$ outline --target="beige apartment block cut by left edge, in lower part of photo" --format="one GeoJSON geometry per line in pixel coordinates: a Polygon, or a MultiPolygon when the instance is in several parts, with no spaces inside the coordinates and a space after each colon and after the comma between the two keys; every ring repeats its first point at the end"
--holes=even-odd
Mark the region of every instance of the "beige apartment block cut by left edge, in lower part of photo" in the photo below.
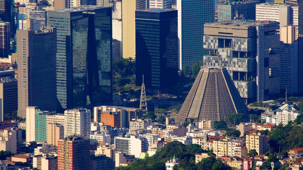
{"type": "Polygon", "coordinates": [[[0,130],[0,149],[17,153],[17,132],[14,130],[0,130]]]}

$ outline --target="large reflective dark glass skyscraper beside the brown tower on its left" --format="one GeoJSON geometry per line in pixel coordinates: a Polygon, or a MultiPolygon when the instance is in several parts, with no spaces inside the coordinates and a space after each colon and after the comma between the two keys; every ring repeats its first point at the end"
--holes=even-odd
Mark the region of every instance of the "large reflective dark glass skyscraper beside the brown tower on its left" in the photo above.
{"type": "Polygon", "coordinates": [[[58,109],[112,102],[111,23],[110,7],[87,5],[48,11],[48,25],[60,27],[57,32],[58,109]]]}

